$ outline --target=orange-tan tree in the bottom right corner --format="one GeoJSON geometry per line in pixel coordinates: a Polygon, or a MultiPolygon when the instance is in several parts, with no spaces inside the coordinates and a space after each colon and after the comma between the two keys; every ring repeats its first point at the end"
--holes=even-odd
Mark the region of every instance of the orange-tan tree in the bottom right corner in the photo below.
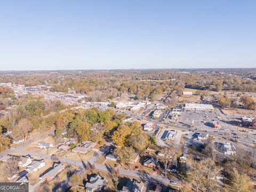
{"type": "Polygon", "coordinates": [[[239,174],[235,168],[233,168],[231,183],[235,192],[249,191],[249,178],[245,174],[239,174]]]}

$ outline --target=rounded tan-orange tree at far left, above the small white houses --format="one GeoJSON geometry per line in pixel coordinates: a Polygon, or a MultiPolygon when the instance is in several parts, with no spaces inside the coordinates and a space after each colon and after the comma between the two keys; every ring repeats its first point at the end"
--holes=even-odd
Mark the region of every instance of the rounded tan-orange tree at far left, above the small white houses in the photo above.
{"type": "Polygon", "coordinates": [[[28,134],[33,130],[33,124],[26,118],[19,121],[18,125],[14,127],[13,133],[18,136],[18,138],[24,138],[27,140],[28,134]]]}

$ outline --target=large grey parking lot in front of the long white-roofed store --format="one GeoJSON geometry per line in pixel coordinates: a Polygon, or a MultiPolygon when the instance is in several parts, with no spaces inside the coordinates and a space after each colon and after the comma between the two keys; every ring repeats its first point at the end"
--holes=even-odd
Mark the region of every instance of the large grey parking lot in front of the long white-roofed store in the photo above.
{"type": "Polygon", "coordinates": [[[221,125],[220,129],[216,130],[225,130],[228,131],[228,126],[226,123],[221,121],[220,114],[218,111],[207,111],[207,110],[184,110],[180,116],[180,124],[191,126],[193,125],[194,121],[194,128],[200,130],[214,130],[210,123],[204,122],[211,122],[216,121],[221,125]],[[219,117],[219,118],[218,118],[219,117]]]}

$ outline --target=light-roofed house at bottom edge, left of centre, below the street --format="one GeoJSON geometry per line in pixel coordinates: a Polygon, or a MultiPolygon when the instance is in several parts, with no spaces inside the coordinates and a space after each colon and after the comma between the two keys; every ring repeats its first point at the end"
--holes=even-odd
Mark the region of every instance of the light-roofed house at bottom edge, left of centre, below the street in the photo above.
{"type": "Polygon", "coordinates": [[[88,182],[85,184],[86,192],[101,191],[101,189],[108,182],[107,179],[102,178],[100,175],[93,175],[88,182]]]}

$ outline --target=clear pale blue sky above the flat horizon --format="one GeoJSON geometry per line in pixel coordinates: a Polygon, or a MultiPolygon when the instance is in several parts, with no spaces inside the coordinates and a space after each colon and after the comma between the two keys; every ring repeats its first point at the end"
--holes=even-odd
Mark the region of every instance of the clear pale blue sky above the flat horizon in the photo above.
{"type": "Polygon", "coordinates": [[[0,2],[0,70],[256,67],[256,1],[0,2]]]}

